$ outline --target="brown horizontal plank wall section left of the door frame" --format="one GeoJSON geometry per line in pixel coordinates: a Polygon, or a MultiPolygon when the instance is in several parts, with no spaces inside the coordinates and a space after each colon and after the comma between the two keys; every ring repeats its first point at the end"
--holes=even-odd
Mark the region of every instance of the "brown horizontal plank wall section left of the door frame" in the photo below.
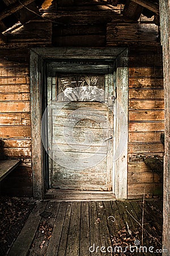
{"type": "Polygon", "coordinates": [[[22,163],[1,181],[1,193],[32,196],[28,49],[0,49],[1,158],[22,163]]]}

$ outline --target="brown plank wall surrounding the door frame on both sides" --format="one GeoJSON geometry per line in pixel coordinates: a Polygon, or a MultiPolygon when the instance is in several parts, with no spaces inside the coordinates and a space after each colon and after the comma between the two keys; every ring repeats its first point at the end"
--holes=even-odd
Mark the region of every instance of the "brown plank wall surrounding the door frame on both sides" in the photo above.
{"type": "MultiPolygon", "coordinates": [[[[95,15],[94,12],[92,14],[95,15]]],[[[68,18],[63,13],[62,16],[57,15],[55,22],[58,19],[64,22],[68,18]]],[[[69,16],[70,23],[66,26],[56,26],[54,23],[53,28],[50,22],[41,23],[39,20],[36,23],[34,20],[33,24],[29,23],[16,33],[8,32],[8,46],[0,47],[1,155],[23,159],[22,164],[2,181],[1,191],[8,195],[32,195],[29,48],[128,46],[128,197],[141,197],[144,188],[146,194],[160,194],[160,177],[143,162],[145,156],[163,156],[164,152],[163,144],[160,143],[160,134],[164,131],[164,92],[158,27],[155,24],[137,26],[136,23],[127,23],[122,18],[120,23],[111,22],[112,19],[109,19],[111,23],[107,24],[104,13],[101,19],[97,13],[93,18],[94,23],[90,24],[87,13],[82,14],[81,10],[80,15],[83,16],[83,26],[81,20],[78,24],[76,15],[69,16]],[[36,41],[36,32],[31,34],[32,26],[37,29],[36,41]]],[[[52,13],[49,18],[53,18],[52,13]]]]}

